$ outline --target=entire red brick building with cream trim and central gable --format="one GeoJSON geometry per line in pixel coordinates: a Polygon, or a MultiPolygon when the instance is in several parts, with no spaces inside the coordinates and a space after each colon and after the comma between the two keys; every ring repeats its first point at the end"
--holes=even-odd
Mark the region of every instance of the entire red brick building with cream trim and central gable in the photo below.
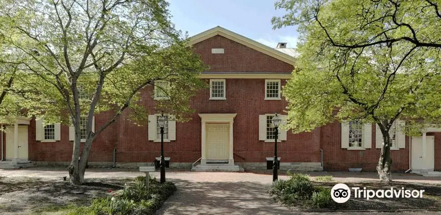
{"type": "MultiPolygon", "coordinates": [[[[210,88],[192,99],[191,108],[196,111],[191,121],[175,122],[171,116],[165,129],[170,166],[191,168],[201,159],[195,170],[265,169],[274,149],[270,119],[273,113],[285,119],[287,102],[281,90],[292,76],[295,52],[285,48],[286,43],[270,48],[219,26],[192,37],[190,44],[210,66],[201,75],[210,88]]],[[[156,123],[160,111],[154,109],[158,99],[167,98],[154,87],[143,91],[141,101],[150,114],[148,125],[138,127],[127,115],[121,116],[92,144],[89,165],[112,166],[114,155],[117,166],[151,165],[160,153],[156,123]]],[[[98,128],[109,117],[111,114],[97,114],[94,126],[98,128]]],[[[68,126],[43,126],[41,120],[20,118],[1,134],[2,163],[68,165],[72,131],[68,126]]],[[[441,170],[440,131],[428,129],[422,137],[412,138],[392,131],[392,170],[441,170]]],[[[334,122],[299,134],[280,129],[281,169],[375,171],[381,147],[377,133],[374,125],[357,122],[334,122]]]]}

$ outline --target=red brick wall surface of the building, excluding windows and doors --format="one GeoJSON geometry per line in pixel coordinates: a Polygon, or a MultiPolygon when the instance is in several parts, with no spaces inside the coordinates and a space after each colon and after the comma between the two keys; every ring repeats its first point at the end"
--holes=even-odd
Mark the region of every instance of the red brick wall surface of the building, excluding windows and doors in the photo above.
{"type": "MultiPolygon", "coordinates": [[[[194,44],[211,72],[290,73],[293,65],[287,64],[262,52],[234,42],[220,35],[194,44]],[[224,54],[211,54],[211,48],[224,48],[224,54]]],[[[206,79],[205,81],[209,81],[206,79]]],[[[281,80],[282,86],[286,80],[281,80]]],[[[153,87],[142,93],[142,104],[149,114],[154,110],[153,87]]],[[[197,93],[190,103],[195,109],[189,122],[176,123],[176,140],[165,143],[166,156],[171,162],[192,163],[201,157],[201,119],[198,113],[237,113],[233,124],[234,160],[238,163],[263,163],[273,155],[273,143],[259,141],[259,114],[283,113],[287,102],[265,100],[265,79],[226,79],[226,100],[209,100],[209,89],[197,93]]],[[[109,120],[111,112],[95,117],[95,128],[109,120]]],[[[28,127],[29,160],[41,162],[70,162],[73,143],[69,141],[69,128],[62,126],[61,141],[41,143],[35,140],[35,121],[28,127]]],[[[8,135],[8,134],[6,134],[8,135]]],[[[441,170],[441,133],[435,135],[435,169],[441,170]]],[[[4,146],[4,145],[3,145],[4,146]]],[[[5,147],[5,146],[4,146],[5,147]]],[[[4,149],[4,148],[3,148],[4,149]]],[[[148,141],[148,128],[137,126],[128,120],[127,111],[116,123],[100,133],[92,144],[89,162],[112,162],[113,150],[117,150],[117,162],[149,163],[159,156],[160,143],[148,141]]],[[[325,171],[347,171],[347,168],[363,168],[375,171],[379,149],[375,149],[375,128],[372,127],[372,148],[360,151],[341,148],[341,125],[330,123],[312,132],[293,134],[288,132],[287,141],[279,144],[282,162],[320,162],[323,151],[325,171]]],[[[4,150],[5,151],[5,150],[4,150]]],[[[409,137],[406,148],[392,151],[392,170],[409,169],[409,137]]]]}

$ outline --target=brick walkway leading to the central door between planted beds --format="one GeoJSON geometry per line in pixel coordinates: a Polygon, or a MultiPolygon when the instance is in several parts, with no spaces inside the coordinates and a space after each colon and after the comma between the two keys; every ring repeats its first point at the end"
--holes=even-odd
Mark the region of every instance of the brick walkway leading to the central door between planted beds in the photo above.
{"type": "Polygon", "coordinates": [[[178,191],[165,202],[158,215],[292,214],[266,194],[271,175],[181,172],[169,174],[169,180],[178,191]]]}

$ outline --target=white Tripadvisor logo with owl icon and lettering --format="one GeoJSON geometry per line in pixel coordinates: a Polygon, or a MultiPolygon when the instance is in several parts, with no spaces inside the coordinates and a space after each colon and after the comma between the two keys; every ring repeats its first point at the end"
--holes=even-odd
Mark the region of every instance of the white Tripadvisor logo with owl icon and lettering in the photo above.
{"type": "Polygon", "coordinates": [[[391,188],[387,190],[369,190],[359,187],[349,187],[345,184],[336,184],[331,189],[331,197],[337,203],[344,203],[351,197],[351,190],[354,192],[354,198],[422,198],[422,193],[424,190],[405,190],[404,187],[401,189],[391,188]]]}

